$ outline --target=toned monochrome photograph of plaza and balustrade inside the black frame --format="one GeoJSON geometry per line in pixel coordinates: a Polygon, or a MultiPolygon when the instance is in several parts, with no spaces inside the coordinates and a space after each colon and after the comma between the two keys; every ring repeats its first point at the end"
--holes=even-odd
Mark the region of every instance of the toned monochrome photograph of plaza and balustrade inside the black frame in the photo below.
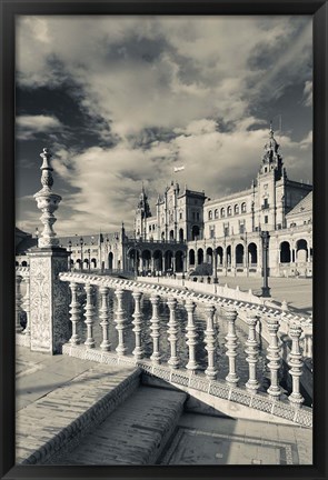
{"type": "Polygon", "coordinates": [[[16,17],[17,466],[312,466],[312,34],[16,17]]]}

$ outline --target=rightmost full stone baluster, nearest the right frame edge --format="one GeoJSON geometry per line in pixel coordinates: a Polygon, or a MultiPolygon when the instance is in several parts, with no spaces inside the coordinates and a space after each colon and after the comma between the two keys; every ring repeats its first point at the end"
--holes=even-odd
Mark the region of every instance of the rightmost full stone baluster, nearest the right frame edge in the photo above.
{"type": "Polygon", "coordinates": [[[299,349],[299,338],[301,336],[301,328],[297,324],[289,327],[289,337],[291,338],[291,351],[289,353],[289,373],[292,378],[292,392],[288,397],[290,403],[295,407],[300,407],[304,402],[304,397],[299,392],[299,378],[302,373],[302,360],[299,349]]]}

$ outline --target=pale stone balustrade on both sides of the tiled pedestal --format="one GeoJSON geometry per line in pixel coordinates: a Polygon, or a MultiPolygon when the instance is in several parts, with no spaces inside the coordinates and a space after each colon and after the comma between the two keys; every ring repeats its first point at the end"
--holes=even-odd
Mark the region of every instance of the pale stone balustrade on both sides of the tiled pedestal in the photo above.
{"type": "MultiPolygon", "coordinates": [[[[23,331],[18,322],[18,313],[24,311],[24,308],[28,312],[28,302],[22,301],[21,294],[21,287],[24,282],[28,292],[28,269],[24,272],[21,271],[21,268],[17,269],[17,337],[20,338],[33,334],[28,321],[23,331]]],[[[229,401],[243,402],[271,413],[277,411],[278,416],[288,418],[290,421],[305,426],[311,424],[311,413],[302,406],[304,398],[300,393],[302,358],[308,356],[311,349],[309,321],[301,323],[295,316],[289,317],[281,313],[280,310],[147,282],[76,272],[62,272],[59,273],[59,278],[61,282],[68,282],[71,292],[68,319],[68,322],[71,323],[71,338],[68,343],[63,344],[63,353],[116,364],[136,364],[145,372],[172,384],[183,386],[183,388],[193,386],[192,388],[227,398],[229,401]],[[110,290],[115,299],[111,304],[113,312],[111,316],[109,314],[110,290]],[[98,298],[97,304],[95,293],[98,298]],[[125,296],[130,296],[130,301],[133,302],[132,314],[127,312],[125,296]],[[142,311],[145,298],[148,299],[151,309],[148,317],[142,311]],[[167,316],[165,327],[160,321],[160,310],[162,316],[163,308],[166,308],[167,316]],[[185,330],[179,324],[177,309],[186,310],[185,330]],[[201,339],[195,322],[198,310],[202,311],[205,320],[201,339]],[[239,353],[237,351],[239,343],[237,318],[243,319],[245,328],[248,331],[247,340],[243,342],[246,354],[243,359],[240,357],[240,350],[239,353]],[[278,372],[282,363],[280,326],[290,330],[288,333],[291,340],[288,367],[292,389],[288,398],[279,386],[278,372]],[[227,334],[223,344],[218,346],[218,329],[220,328],[225,328],[223,331],[227,334]],[[96,339],[97,329],[98,338],[96,339]],[[129,350],[126,336],[131,331],[133,332],[133,348],[129,350]],[[266,332],[269,343],[267,351],[262,351],[262,356],[266,356],[268,360],[266,369],[269,387],[268,384],[264,387],[259,382],[260,336],[258,333],[260,331],[266,332]],[[180,350],[178,348],[182,337],[183,358],[181,346],[180,350]],[[161,349],[163,339],[168,347],[166,352],[161,349]],[[117,346],[115,350],[112,344],[117,346]],[[202,349],[202,358],[206,361],[201,368],[197,359],[197,351],[199,354],[200,349],[202,349]],[[220,362],[222,356],[226,357],[228,368],[223,376],[220,362]],[[248,378],[243,376],[241,381],[239,369],[243,367],[245,370],[247,363],[248,378]],[[297,413],[300,411],[301,413],[297,413]]]]}

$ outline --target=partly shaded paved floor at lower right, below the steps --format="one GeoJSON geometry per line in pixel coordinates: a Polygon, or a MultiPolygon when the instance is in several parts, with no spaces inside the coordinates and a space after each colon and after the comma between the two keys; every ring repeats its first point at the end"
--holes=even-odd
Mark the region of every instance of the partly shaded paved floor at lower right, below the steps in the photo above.
{"type": "Polygon", "coordinates": [[[311,464],[312,431],[183,413],[161,464],[311,464]]]}

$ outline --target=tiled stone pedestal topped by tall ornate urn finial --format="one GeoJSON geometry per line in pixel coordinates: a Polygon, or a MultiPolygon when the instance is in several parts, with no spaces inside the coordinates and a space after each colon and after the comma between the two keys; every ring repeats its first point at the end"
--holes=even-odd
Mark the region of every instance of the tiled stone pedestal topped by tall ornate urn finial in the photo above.
{"type": "Polygon", "coordinates": [[[68,270],[69,252],[59,248],[52,229],[61,197],[51,191],[53,179],[51,153],[41,153],[42,189],[34,194],[44,226],[38,248],[28,252],[30,263],[30,329],[31,350],[56,353],[70,338],[69,286],[59,280],[59,273],[68,270]]]}

